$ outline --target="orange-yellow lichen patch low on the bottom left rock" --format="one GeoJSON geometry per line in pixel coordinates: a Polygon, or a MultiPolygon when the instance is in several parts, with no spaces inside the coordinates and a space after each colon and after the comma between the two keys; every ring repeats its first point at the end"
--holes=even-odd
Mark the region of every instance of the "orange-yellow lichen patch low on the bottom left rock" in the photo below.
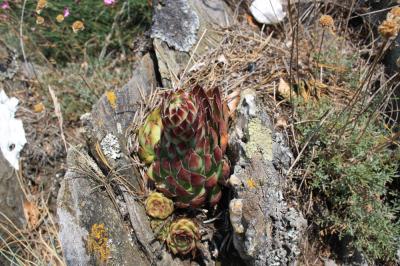
{"type": "Polygon", "coordinates": [[[87,240],[88,251],[100,258],[100,261],[106,262],[110,256],[108,246],[108,232],[104,224],[93,224],[90,235],[87,240]]]}

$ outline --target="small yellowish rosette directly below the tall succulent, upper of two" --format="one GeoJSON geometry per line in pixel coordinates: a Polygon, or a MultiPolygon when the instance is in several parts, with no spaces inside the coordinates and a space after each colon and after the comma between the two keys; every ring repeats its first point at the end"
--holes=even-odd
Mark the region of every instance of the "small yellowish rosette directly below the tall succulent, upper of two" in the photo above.
{"type": "Polygon", "coordinates": [[[152,192],[145,201],[146,213],[164,220],[174,212],[174,203],[162,193],[152,192]]]}

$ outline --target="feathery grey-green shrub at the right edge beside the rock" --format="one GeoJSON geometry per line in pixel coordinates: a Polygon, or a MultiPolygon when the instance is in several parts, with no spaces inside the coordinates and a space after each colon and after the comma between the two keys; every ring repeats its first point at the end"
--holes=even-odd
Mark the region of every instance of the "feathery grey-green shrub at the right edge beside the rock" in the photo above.
{"type": "Polygon", "coordinates": [[[312,136],[303,164],[310,167],[310,187],[327,213],[316,222],[325,235],[349,237],[351,247],[369,260],[394,259],[400,245],[400,205],[389,197],[388,185],[396,178],[398,149],[380,148],[390,132],[382,121],[369,121],[369,113],[340,114],[337,108],[320,125],[322,114],[332,108],[337,107],[328,99],[297,102],[299,121],[318,121],[297,126],[303,145],[312,136]],[[353,122],[347,126],[349,116],[353,122]]]}

